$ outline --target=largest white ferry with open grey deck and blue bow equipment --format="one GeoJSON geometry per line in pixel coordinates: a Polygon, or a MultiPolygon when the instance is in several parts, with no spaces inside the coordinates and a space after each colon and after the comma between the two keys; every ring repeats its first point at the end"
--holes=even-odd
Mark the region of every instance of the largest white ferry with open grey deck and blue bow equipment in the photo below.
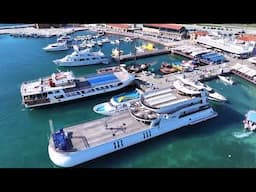
{"type": "Polygon", "coordinates": [[[149,97],[156,97],[153,107],[159,107],[159,111],[146,108],[141,101],[137,101],[126,112],[52,133],[48,145],[51,161],[60,167],[73,167],[217,116],[208,103],[205,91],[200,96],[191,98],[178,97],[174,90],[170,90],[167,88],[143,94],[149,106],[152,105],[148,101],[149,97]],[[166,101],[161,107],[162,101],[157,97],[162,93],[172,93],[173,99],[166,101]]]}

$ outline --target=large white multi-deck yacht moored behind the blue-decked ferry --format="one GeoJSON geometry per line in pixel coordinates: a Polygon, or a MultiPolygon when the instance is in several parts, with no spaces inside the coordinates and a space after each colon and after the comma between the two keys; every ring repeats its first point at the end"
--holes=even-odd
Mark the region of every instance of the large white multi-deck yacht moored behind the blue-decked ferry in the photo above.
{"type": "Polygon", "coordinates": [[[83,66],[94,64],[109,64],[110,59],[104,55],[103,52],[90,52],[89,49],[79,51],[74,48],[74,52],[62,59],[54,60],[53,62],[58,66],[83,66]]]}

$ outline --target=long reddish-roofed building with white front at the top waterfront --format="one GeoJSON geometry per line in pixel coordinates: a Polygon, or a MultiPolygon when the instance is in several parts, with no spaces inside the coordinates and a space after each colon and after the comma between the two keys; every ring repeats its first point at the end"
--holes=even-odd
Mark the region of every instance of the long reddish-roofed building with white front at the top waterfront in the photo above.
{"type": "Polygon", "coordinates": [[[188,30],[180,24],[143,24],[143,32],[173,40],[188,37],[188,30]]]}

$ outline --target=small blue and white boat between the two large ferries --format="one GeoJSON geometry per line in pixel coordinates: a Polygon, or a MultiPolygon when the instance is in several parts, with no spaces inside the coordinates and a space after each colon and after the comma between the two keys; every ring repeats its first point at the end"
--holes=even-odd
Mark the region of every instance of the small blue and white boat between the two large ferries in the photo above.
{"type": "Polygon", "coordinates": [[[134,91],[125,92],[116,95],[109,102],[100,103],[93,107],[93,111],[102,115],[115,115],[128,110],[131,103],[140,99],[142,91],[136,89],[134,91]]]}

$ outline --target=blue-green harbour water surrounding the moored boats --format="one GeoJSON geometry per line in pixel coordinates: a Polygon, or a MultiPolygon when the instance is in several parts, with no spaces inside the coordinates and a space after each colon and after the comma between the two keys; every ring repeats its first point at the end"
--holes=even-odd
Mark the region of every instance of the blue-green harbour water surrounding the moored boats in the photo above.
{"type": "MultiPolygon", "coordinates": [[[[89,32],[78,32],[85,34],[89,32]]],[[[118,39],[118,37],[112,37],[118,39]]],[[[98,103],[108,101],[113,95],[97,96],[82,101],[57,104],[44,108],[25,109],[21,105],[20,84],[26,80],[48,76],[56,72],[52,60],[61,58],[72,50],[47,53],[42,50],[56,38],[14,38],[0,36],[0,167],[56,167],[48,157],[49,120],[57,130],[79,122],[101,118],[93,112],[98,103]]],[[[138,45],[142,42],[137,42],[138,45]]],[[[125,53],[130,44],[121,44],[125,53]]],[[[115,45],[106,44],[102,50],[110,55],[115,45]]],[[[137,60],[151,62],[157,71],[163,61],[179,63],[184,58],[162,55],[137,60]]],[[[95,65],[71,70],[75,75],[95,73],[106,65],[95,65]]],[[[229,100],[225,104],[212,103],[219,116],[195,126],[185,127],[150,141],[104,156],[79,167],[113,168],[172,168],[172,167],[255,167],[256,136],[244,134],[244,114],[256,108],[254,85],[233,77],[234,86],[219,80],[210,86],[229,100]]]]}

